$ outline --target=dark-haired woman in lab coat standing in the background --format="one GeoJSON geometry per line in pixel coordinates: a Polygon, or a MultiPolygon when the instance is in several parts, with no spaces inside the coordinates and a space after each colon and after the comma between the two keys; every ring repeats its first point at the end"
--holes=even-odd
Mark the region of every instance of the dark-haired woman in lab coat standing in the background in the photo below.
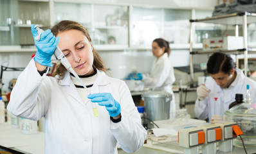
{"type": "MultiPolygon", "coordinates": [[[[172,94],[172,101],[170,103],[170,112],[176,111],[176,104],[174,99],[174,93],[172,91],[172,83],[175,81],[174,69],[170,62],[170,46],[169,42],[164,39],[155,39],[152,42],[152,54],[156,56],[153,61],[150,74],[138,73],[138,78],[135,80],[142,80],[145,83],[145,87],[150,88],[162,88],[165,91],[172,94]]],[[[173,116],[173,115],[172,115],[173,116]]],[[[170,117],[171,118],[171,117],[170,117]]]]}

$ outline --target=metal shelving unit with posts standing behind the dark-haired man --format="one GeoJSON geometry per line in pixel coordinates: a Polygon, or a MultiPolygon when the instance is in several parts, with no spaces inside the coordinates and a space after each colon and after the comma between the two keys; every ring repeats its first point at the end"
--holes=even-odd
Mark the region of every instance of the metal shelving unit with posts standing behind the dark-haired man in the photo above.
{"type": "Polygon", "coordinates": [[[214,52],[224,52],[230,53],[234,55],[244,54],[244,75],[247,76],[247,69],[248,69],[248,51],[252,53],[255,51],[254,49],[248,49],[248,42],[247,42],[247,26],[248,24],[256,22],[256,13],[232,13],[228,15],[219,15],[215,17],[209,17],[205,19],[191,19],[190,20],[190,87],[194,87],[194,68],[193,68],[193,55],[195,54],[206,54],[206,53],[214,53],[214,52]],[[243,49],[237,50],[215,50],[211,52],[206,52],[202,50],[193,51],[193,23],[194,22],[205,22],[211,24],[225,24],[225,25],[232,25],[235,26],[235,36],[238,37],[239,28],[238,26],[242,26],[243,31],[243,49]]]}

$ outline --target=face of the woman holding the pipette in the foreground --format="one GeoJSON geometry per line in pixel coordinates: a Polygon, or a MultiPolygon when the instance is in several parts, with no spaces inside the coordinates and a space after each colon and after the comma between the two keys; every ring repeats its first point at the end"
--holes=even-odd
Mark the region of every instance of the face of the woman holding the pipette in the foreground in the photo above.
{"type": "Polygon", "coordinates": [[[78,75],[93,73],[93,46],[82,31],[68,30],[57,35],[58,46],[78,75]]]}

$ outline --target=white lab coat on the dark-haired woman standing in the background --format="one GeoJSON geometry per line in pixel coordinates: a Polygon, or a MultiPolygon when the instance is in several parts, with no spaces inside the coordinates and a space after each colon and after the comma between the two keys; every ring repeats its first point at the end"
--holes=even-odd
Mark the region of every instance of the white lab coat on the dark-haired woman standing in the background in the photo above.
{"type": "Polygon", "coordinates": [[[176,111],[174,93],[172,91],[172,84],[175,81],[174,69],[167,53],[164,53],[160,58],[156,58],[153,61],[151,73],[146,75],[143,74],[142,81],[145,83],[145,87],[160,87],[172,94],[170,112],[176,111]]]}

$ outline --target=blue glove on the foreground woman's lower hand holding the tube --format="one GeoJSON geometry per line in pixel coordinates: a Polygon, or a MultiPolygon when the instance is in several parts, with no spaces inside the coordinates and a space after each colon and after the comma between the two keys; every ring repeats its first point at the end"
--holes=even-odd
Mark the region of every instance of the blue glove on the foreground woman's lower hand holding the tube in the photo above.
{"type": "Polygon", "coordinates": [[[109,116],[116,117],[121,112],[120,104],[114,100],[112,94],[110,93],[98,93],[89,94],[87,98],[91,99],[91,102],[98,103],[98,105],[105,106],[109,112],[109,116]]]}

